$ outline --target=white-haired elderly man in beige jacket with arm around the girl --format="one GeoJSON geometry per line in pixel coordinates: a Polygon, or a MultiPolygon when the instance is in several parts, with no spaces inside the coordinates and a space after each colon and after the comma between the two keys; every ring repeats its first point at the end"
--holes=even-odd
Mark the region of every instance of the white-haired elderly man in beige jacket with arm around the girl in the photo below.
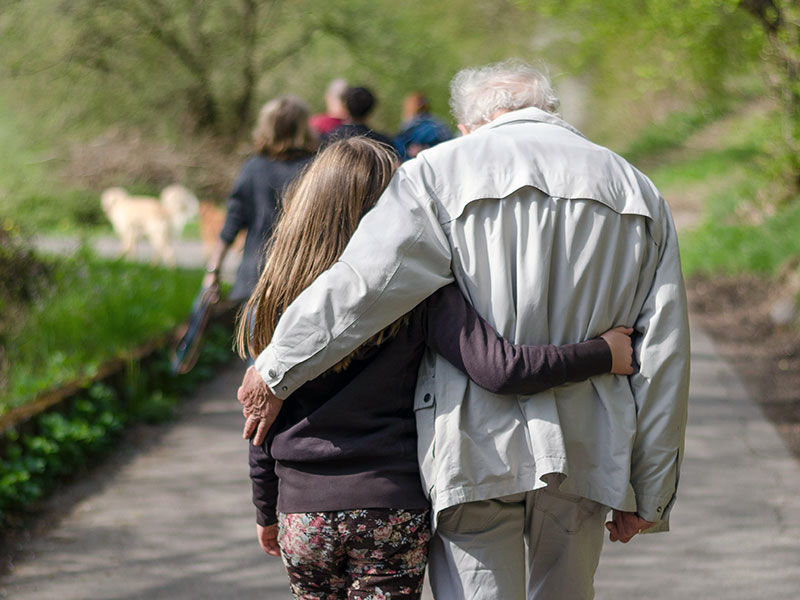
{"type": "Polygon", "coordinates": [[[609,508],[611,539],[627,542],[666,530],[675,501],[689,340],[674,225],[649,179],[556,116],[538,71],[466,69],[451,92],[464,136],[405,163],[283,314],[239,390],[246,435],[452,280],[516,342],[631,325],[630,377],[498,398],[430,353],[417,383],[436,597],[524,598],[527,571],[528,598],[591,598],[609,508]]]}

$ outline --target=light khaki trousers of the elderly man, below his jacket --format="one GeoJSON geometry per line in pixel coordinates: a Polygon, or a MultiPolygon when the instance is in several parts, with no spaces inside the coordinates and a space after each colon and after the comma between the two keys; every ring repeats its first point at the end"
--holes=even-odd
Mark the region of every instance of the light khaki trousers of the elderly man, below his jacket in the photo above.
{"type": "Polygon", "coordinates": [[[445,509],[430,544],[433,595],[591,599],[608,510],[553,486],[445,509]]]}

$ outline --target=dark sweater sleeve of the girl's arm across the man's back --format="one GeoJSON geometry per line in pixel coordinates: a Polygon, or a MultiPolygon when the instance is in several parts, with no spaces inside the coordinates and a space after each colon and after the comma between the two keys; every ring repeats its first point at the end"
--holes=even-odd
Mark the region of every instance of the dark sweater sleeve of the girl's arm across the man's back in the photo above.
{"type": "Polygon", "coordinates": [[[602,338],[564,346],[512,344],[455,284],[433,294],[426,308],[427,344],[490,392],[535,394],[611,371],[611,349],[602,338]]]}

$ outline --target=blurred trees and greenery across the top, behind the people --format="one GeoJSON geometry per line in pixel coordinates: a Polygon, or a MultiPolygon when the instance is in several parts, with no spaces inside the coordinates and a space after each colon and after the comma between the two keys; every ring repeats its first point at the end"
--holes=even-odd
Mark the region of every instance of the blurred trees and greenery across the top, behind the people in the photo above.
{"type": "MultiPolygon", "coordinates": [[[[0,140],[5,128],[25,165],[71,190],[95,193],[127,165],[143,191],[180,178],[220,198],[271,97],[297,94],[322,110],[328,81],[346,77],[375,90],[373,123],[391,132],[409,91],[425,90],[445,116],[459,68],[518,56],[544,59],[565,117],[620,150],[675,113],[694,114],[688,132],[772,95],[783,121],[769,168],[797,182],[799,4],[5,0],[0,140]]],[[[6,170],[0,193],[20,187],[7,183],[19,169],[6,170]]]]}

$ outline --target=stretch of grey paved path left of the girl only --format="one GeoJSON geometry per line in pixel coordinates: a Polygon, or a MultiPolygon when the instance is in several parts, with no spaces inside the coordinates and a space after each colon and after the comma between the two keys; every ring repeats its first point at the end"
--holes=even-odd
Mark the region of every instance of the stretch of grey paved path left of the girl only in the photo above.
{"type": "Polygon", "coordinates": [[[255,539],[235,399],[242,374],[236,365],[201,387],[160,439],[36,536],[0,579],[0,598],[290,598],[280,560],[255,539]]]}

